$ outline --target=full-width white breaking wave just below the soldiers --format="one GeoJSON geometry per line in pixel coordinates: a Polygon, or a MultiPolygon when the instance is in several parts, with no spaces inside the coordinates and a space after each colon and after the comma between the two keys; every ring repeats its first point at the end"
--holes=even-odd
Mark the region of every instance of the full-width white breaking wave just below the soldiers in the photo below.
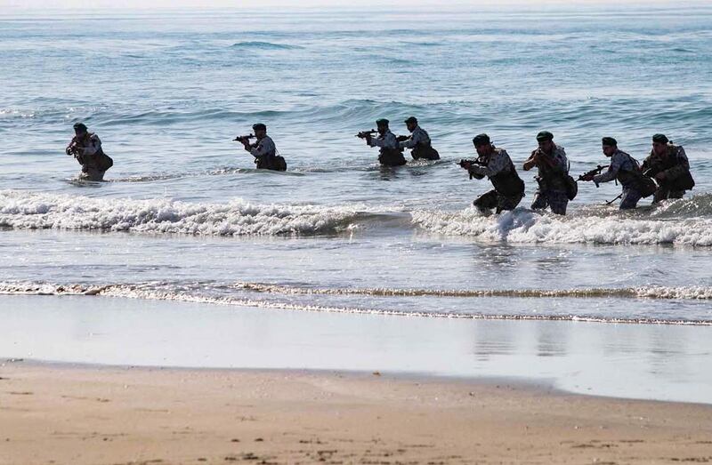
{"type": "Polygon", "coordinates": [[[712,246],[712,195],[637,212],[586,206],[561,217],[523,208],[483,216],[474,208],[407,212],[385,206],[374,211],[365,204],[254,204],[240,199],[211,204],[6,190],[0,191],[0,227],[225,237],[419,228],[489,243],[712,246]]]}

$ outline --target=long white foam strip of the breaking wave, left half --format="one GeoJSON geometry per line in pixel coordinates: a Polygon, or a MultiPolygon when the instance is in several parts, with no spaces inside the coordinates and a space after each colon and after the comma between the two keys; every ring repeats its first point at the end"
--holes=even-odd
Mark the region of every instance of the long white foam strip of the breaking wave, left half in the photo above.
{"type": "Polygon", "coordinates": [[[206,236],[312,235],[352,226],[353,207],[262,205],[242,200],[191,204],[166,199],[98,199],[0,192],[0,226],[206,236]]]}

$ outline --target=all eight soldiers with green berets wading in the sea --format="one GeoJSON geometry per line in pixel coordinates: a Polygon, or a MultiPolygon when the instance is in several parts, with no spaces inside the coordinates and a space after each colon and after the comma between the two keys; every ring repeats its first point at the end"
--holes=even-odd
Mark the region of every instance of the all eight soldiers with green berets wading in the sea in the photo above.
{"type": "MultiPolygon", "coordinates": [[[[403,151],[411,150],[414,159],[438,160],[440,155],[431,144],[430,136],[422,129],[417,118],[410,116],[404,121],[409,135],[396,136],[389,129],[387,119],[376,121],[377,130],[359,132],[361,139],[369,147],[379,148],[378,162],[385,166],[406,164],[403,151]]],[[[242,143],[247,152],[255,157],[256,167],[275,171],[287,170],[287,163],[279,156],[274,140],[267,135],[267,126],[257,123],[252,126],[253,134],[239,136],[235,140],[242,143]],[[250,140],[255,139],[255,142],[250,140]]],[[[75,156],[82,165],[80,179],[102,180],[113,161],[101,149],[101,140],[93,132],[88,132],[85,124],[74,124],[75,137],[66,149],[67,155],[75,156]]],[[[598,187],[603,182],[617,180],[622,186],[620,209],[637,206],[638,201],[653,196],[653,204],[667,198],[681,198],[686,190],[694,186],[690,163],[684,148],[675,145],[664,134],[652,136],[650,155],[643,164],[633,156],[618,148],[618,141],[603,137],[603,155],[611,158],[610,164],[599,165],[574,180],[570,174],[570,164],[562,146],[554,143],[554,134],[542,131],[537,134],[538,148],[535,148],[522,165],[524,171],[537,168],[537,193],[531,204],[532,210],[547,207],[560,215],[566,214],[570,200],[578,193],[577,181],[593,181],[598,187]],[[607,168],[607,169],[606,169],[607,168]],[[605,170],[605,172],[603,172],[605,170]]],[[[487,134],[473,138],[477,157],[461,160],[460,166],[469,172],[470,179],[484,179],[492,183],[493,189],[478,196],[473,204],[477,209],[489,214],[492,210],[502,212],[514,210],[524,197],[524,181],[504,148],[495,147],[487,134]]]]}

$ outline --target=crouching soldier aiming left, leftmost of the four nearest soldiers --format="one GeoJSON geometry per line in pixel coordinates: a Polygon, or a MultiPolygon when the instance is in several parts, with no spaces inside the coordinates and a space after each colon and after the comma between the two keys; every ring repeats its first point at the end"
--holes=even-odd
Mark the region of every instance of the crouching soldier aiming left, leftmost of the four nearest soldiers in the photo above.
{"type": "Polygon", "coordinates": [[[514,210],[524,196],[524,181],[517,174],[512,159],[504,148],[497,148],[490,142],[490,136],[479,134],[473,139],[477,150],[477,160],[462,160],[460,166],[470,172],[470,179],[482,179],[487,176],[494,186],[493,190],[477,197],[473,204],[482,214],[514,210]]]}

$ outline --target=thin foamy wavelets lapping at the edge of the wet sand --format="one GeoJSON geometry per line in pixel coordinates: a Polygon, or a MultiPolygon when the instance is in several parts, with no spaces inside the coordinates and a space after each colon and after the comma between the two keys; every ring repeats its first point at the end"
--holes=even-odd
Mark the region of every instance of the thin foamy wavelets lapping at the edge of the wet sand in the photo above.
{"type": "MultiPolygon", "coordinates": [[[[136,285],[53,285],[47,283],[0,283],[0,294],[4,295],[56,295],[56,296],[104,296],[125,299],[158,301],[179,301],[206,303],[235,307],[254,307],[258,309],[280,309],[295,311],[317,311],[328,313],[352,313],[363,315],[382,315],[398,317],[440,317],[457,319],[510,319],[510,320],[551,320],[551,321],[586,321],[598,323],[635,323],[665,325],[712,325],[707,319],[660,319],[648,317],[605,317],[596,315],[570,314],[531,314],[531,313],[453,313],[443,311],[418,311],[402,309],[374,309],[318,303],[300,303],[298,301],[276,301],[255,298],[250,295],[229,295],[214,293],[223,286],[196,283],[194,285],[167,285],[162,283],[144,283],[136,285]]],[[[415,289],[300,289],[288,286],[259,285],[239,283],[233,287],[254,291],[255,293],[330,293],[352,294],[366,293],[375,296],[401,297],[512,297],[512,298],[637,298],[637,299],[712,299],[712,288],[708,287],[661,287],[649,286],[622,289],[572,289],[572,290],[483,290],[483,291],[431,291],[415,289]]]]}

